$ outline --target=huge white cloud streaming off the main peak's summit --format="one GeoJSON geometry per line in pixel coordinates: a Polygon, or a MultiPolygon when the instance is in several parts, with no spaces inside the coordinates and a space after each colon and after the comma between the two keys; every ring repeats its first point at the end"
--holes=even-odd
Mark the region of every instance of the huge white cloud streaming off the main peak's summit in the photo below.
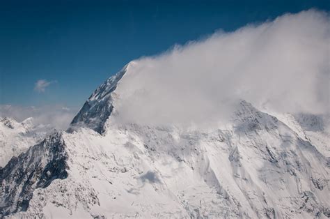
{"type": "Polygon", "coordinates": [[[133,61],[114,115],[137,123],[209,123],[236,100],[277,112],[329,113],[329,14],[287,14],[133,61]]]}

